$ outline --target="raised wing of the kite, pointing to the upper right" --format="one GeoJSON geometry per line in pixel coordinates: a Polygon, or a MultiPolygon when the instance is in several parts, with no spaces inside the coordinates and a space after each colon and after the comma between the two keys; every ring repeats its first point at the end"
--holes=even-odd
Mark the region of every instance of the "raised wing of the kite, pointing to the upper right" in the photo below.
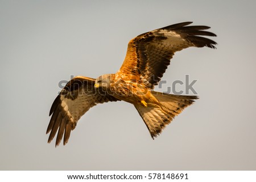
{"type": "Polygon", "coordinates": [[[176,51],[190,46],[215,48],[216,42],[201,37],[216,36],[203,31],[210,27],[188,26],[191,23],[184,22],[155,29],[130,40],[125,61],[117,75],[123,79],[144,78],[146,86],[154,88],[176,51]]]}

